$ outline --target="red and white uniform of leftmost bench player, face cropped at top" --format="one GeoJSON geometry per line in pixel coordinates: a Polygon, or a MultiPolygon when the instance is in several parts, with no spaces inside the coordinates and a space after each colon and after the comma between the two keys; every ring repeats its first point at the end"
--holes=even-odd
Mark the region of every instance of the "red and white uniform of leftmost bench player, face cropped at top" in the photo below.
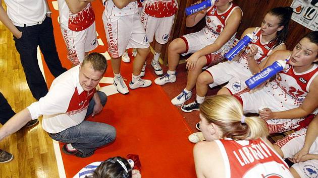
{"type": "MultiPolygon", "coordinates": [[[[213,44],[219,37],[219,35],[222,33],[224,27],[226,26],[228,17],[230,17],[230,15],[235,9],[241,10],[240,7],[233,3],[223,13],[219,13],[216,6],[210,7],[207,10],[205,16],[206,26],[198,32],[190,33],[180,37],[184,40],[187,47],[186,52],[182,55],[194,53],[204,48],[205,46],[213,44]]],[[[218,62],[220,62],[223,59],[223,55],[229,51],[230,46],[234,43],[234,41],[235,34],[223,47],[221,47],[218,51],[213,53],[213,55],[218,54],[217,56],[206,55],[207,64],[211,63],[211,60],[218,60],[218,62]]]]}

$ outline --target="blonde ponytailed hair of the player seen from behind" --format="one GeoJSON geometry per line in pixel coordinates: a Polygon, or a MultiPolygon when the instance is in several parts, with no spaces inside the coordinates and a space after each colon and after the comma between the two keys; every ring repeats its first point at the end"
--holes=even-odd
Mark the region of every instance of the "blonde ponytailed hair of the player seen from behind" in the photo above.
{"type": "Polygon", "coordinates": [[[209,123],[219,126],[223,138],[252,140],[269,134],[266,122],[259,117],[246,117],[241,122],[243,108],[233,96],[207,97],[200,105],[200,113],[209,123]]]}

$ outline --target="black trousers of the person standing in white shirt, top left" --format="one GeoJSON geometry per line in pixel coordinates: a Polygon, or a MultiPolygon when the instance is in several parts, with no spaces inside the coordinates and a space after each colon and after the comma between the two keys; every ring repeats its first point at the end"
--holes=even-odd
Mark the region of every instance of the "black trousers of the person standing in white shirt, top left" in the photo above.
{"type": "Polygon", "coordinates": [[[58,56],[51,18],[46,17],[40,25],[17,28],[22,32],[22,37],[13,39],[20,53],[21,64],[31,93],[36,100],[39,100],[48,90],[37,62],[37,46],[40,47],[49,71],[55,77],[67,69],[62,67],[58,56]]]}

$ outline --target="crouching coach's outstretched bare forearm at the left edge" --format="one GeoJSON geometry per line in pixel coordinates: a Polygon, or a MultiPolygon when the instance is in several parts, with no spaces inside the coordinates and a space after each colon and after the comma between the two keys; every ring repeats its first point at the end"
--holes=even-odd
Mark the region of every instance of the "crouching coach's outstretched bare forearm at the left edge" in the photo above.
{"type": "Polygon", "coordinates": [[[20,130],[27,122],[31,120],[31,114],[27,108],[14,115],[5,125],[0,129],[0,140],[9,136],[12,133],[20,130]]]}

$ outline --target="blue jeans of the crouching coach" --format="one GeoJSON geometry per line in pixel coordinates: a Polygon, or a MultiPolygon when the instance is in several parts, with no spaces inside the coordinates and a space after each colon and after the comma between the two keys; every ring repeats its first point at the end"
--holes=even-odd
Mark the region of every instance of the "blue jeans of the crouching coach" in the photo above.
{"type": "MultiPolygon", "coordinates": [[[[101,104],[105,106],[107,96],[102,92],[97,92],[101,104]]],[[[89,102],[86,117],[93,112],[95,102],[93,99],[89,102]]],[[[108,124],[83,121],[82,123],[70,127],[62,132],[48,135],[59,142],[72,143],[72,146],[78,151],[88,154],[96,148],[113,142],[116,138],[116,129],[108,124]]]]}

